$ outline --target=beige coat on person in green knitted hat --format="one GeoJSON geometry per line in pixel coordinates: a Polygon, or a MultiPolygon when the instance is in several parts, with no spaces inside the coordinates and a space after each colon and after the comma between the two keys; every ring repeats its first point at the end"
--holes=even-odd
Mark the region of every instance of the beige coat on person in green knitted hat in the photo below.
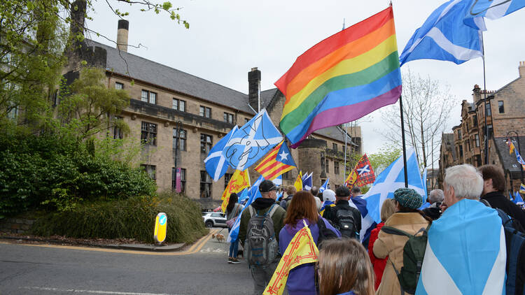
{"type": "MultiPolygon", "coordinates": [[[[414,234],[421,228],[426,229],[428,221],[419,213],[395,213],[386,220],[384,225],[395,227],[409,234],[414,234]]],[[[388,261],[386,261],[381,285],[377,288],[376,295],[395,295],[401,293],[398,277],[392,268],[392,262],[395,269],[400,271],[403,265],[403,247],[405,247],[407,240],[407,236],[391,235],[384,231],[379,231],[379,236],[374,243],[374,254],[377,258],[381,259],[388,256],[388,261]]]]}

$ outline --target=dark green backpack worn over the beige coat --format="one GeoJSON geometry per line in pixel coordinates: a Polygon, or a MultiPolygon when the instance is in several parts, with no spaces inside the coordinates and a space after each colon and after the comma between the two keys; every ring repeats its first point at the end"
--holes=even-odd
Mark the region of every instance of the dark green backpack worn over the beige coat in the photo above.
{"type": "Polygon", "coordinates": [[[415,294],[417,282],[419,280],[419,274],[421,274],[421,266],[423,266],[423,257],[425,257],[426,242],[428,240],[428,229],[421,228],[414,235],[411,235],[400,229],[395,229],[391,226],[381,227],[381,231],[390,233],[392,235],[407,236],[408,240],[403,247],[403,266],[401,270],[395,269],[393,262],[391,262],[395,274],[398,275],[399,285],[401,286],[401,294],[407,292],[408,294],[415,294]],[[421,236],[417,234],[421,233],[421,236]]]}

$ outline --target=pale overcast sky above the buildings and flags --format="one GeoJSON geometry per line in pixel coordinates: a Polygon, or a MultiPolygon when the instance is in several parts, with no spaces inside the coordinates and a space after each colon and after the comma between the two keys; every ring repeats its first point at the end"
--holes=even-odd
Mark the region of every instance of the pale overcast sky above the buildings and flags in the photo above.
{"type": "MultiPolygon", "coordinates": [[[[113,8],[129,11],[130,45],[128,52],[171,66],[200,78],[248,93],[248,71],[257,66],[262,73],[262,90],[274,88],[274,82],[295,59],[324,38],[385,9],[390,1],[310,1],[310,0],[183,0],[172,1],[182,7],[181,17],[190,29],[169,19],[165,13],[140,12],[129,4],[109,0],[113,8]]],[[[445,1],[392,1],[398,50],[403,48],[428,15],[445,1]]],[[[118,17],[106,1],[94,2],[87,27],[116,41],[118,17]]],[[[518,77],[519,61],[525,61],[525,9],[499,20],[486,20],[486,88],[496,90],[518,77]]],[[[114,45],[94,34],[88,36],[114,45]]],[[[434,60],[416,60],[403,65],[413,73],[430,75],[449,85],[457,104],[452,110],[447,130],[461,120],[461,101],[472,101],[472,88],[483,88],[482,59],[461,65],[434,60]]],[[[133,73],[131,73],[133,75],[133,73]]],[[[376,152],[384,140],[379,111],[361,124],[364,152],[376,152]]]]}

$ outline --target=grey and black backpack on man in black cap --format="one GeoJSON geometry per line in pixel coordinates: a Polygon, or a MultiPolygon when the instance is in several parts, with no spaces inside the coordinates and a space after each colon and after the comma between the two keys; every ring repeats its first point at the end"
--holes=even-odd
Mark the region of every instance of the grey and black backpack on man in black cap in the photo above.
{"type": "Polygon", "coordinates": [[[248,207],[251,219],[246,231],[246,259],[249,265],[267,266],[279,254],[279,243],[275,238],[272,215],[278,206],[273,204],[267,212],[259,215],[252,206],[248,207]]]}

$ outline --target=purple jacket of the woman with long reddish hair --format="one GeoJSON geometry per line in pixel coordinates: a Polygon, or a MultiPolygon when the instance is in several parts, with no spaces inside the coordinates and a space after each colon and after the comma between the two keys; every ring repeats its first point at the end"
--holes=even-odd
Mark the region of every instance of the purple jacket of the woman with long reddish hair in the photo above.
{"type": "MultiPolygon", "coordinates": [[[[318,217],[323,218],[321,216],[318,217]]],[[[309,220],[304,221],[308,224],[311,236],[317,244],[319,227],[317,224],[310,224],[309,220]]],[[[323,221],[325,222],[327,229],[335,232],[339,238],[341,237],[341,233],[339,233],[330,222],[327,222],[324,218],[323,221]]],[[[284,253],[293,236],[295,236],[295,233],[300,231],[303,226],[304,224],[302,223],[302,220],[297,220],[297,223],[294,226],[286,224],[283,229],[281,229],[281,232],[279,232],[279,250],[281,251],[281,254],[284,253]]],[[[293,268],[288,275],[286,287],[288,287],[288,294],[290,295],[316,295],[314,264],[302,264],[293,268]]]]}

